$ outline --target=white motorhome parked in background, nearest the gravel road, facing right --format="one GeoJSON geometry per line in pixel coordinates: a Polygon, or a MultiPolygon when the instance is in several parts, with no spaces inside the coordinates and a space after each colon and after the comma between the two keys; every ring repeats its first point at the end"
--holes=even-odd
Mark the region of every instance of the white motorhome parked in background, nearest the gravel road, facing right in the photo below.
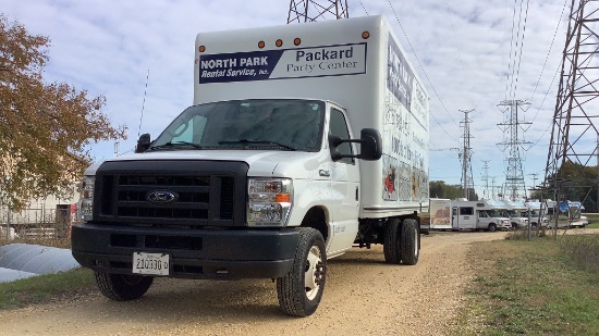
{"type": "Polygon", "coordinates": [[[485,229],[496,232],[498,229],[510,229],[512,224],[509,217],[500,214],[505,210],[505,204],[498,200],[451,201],[452,229],[485,229]]]}

